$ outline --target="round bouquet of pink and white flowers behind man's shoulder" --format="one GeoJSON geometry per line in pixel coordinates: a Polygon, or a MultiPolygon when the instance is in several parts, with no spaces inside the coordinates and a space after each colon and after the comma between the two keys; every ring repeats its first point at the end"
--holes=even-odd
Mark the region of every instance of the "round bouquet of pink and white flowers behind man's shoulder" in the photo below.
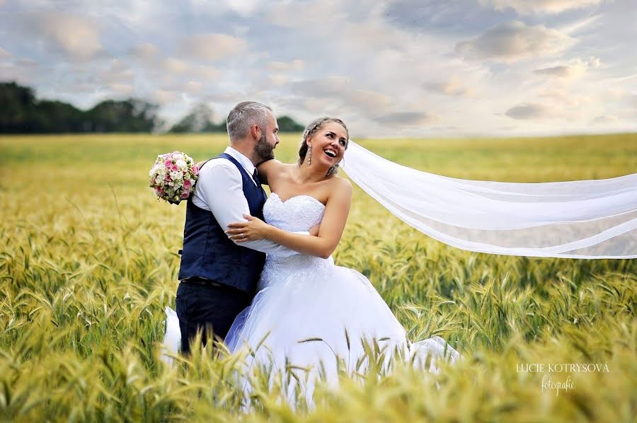
{"type": "Polygon", "coordinates": [[[160,154],[149,172],[150,187],[158,199],[179,204],[190,197],[199,178],[199,168],[193,158],[180,151],[160,154]]]}

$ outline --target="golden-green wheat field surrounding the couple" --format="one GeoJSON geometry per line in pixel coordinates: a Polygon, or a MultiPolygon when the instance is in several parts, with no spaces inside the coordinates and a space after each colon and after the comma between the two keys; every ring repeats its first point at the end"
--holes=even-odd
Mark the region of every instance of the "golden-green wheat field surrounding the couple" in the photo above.
{"type": "MultiPolygon", "coordinates": [[[[455,178],[637,171],[637,134],[356,141],[455,178]]],[[[277,158],[294,161],[298,142],[282,137],[277,158]]],[[[338,390],[319,387],[310,408],[282,400],[282,385],[269,386],[263,373],[245,395],[238,356],[197,350],[163,364],[163,308],[174,307],[185,204],[158,202],[148,170],[159,153],[200,161],[226,143],[217,135],[0,137],[0,419],[633,421],[637,260],[457,250],[358,188],[335,262],[370,279],[411,340],[440,335],[462,361],[437,375],[397,362],[380,377],[343,376],[338,390]]]]}

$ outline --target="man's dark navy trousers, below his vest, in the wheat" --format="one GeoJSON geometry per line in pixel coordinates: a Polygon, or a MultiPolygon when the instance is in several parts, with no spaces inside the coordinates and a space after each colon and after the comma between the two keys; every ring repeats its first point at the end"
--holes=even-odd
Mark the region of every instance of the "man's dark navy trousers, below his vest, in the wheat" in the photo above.
{"type": "Polygon", "coordinates": [[[190,342],[197,331],[202,332],[204,345],[208,332],[223,340],[234,318],[250,305],[252,299],[253,296],[247,292],[205,279],[180,282],[176,308],[181,330],[181,352],[190,353],[190,342]]]}

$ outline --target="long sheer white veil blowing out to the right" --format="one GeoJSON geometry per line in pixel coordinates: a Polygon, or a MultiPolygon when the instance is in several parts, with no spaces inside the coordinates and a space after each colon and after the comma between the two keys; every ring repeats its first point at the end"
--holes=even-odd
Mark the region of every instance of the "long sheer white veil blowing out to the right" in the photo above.
{"type": "Polygon", "coordinates": [[[637,257],[637,173],[515,183],[448,178],[398,165],[349,141],[341,168],[428,236],[478,253],[637,257]]]}

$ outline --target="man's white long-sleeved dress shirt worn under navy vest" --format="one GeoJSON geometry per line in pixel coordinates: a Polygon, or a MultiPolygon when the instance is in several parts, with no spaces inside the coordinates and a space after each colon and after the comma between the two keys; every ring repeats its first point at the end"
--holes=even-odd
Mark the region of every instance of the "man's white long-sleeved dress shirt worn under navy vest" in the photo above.
{"type": "MultiPolygon", "coordinates": [[[[256,185],[252,179],[254,173],[252,161],[230,146],[224,153],[238,161],[250,176],[250,182],[256,185]]],[[[234,163],[225,158],[215,158],[205,163],[199,170],[199,178],[193,192],[193,204],[200,209],[212,212],[214,219],[217,219],[224,231],[228,229],[228,224],[246,221],[243,214],[250,214],[250,208],[246,196],[243,195],[241,172],[234,163]]],[[[309,232],[297,233],[309,235],[309,232]]],[[[282,257],[299,254],[268,239],[245,241],[236,245],[282,257]]]]}

